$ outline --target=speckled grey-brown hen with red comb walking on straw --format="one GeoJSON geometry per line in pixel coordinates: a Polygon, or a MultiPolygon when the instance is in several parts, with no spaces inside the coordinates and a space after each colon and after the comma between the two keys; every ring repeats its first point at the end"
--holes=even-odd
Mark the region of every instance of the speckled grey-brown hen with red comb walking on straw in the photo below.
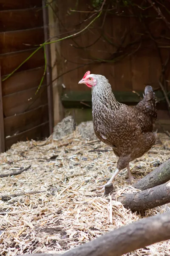
{"type": "MultiPolygon", "coordinates": [[[[144,89],[144,98],[136,106],[116,101],[108,79],[87,71],[79,84],[92,89],[92,116],[96,136],[113,148],[118,157],[117,169],[106,185],[127,167],[128,181],[133,181],[129,163],[142,157],[155,143],[153,123],[156,121],[156,99],[151,86],[144,89]]],[[[105,189],[105,186],[102,190],[105,189]]]]}

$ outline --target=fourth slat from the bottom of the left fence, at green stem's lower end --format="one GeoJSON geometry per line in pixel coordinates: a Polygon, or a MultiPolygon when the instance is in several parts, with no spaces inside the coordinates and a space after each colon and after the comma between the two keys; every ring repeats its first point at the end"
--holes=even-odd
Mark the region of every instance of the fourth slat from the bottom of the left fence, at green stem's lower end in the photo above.
{"type": "MultiPolygon", "coordinates": [[[[14,73],[5,81],[2,81],[3,96],[38,87],[43,73],[44,67],[14,73]]],[[[5,77],[3,76],[2,79],[5,77]]],[[[43,84],[46,84],[46,77],[44,77],[43,84]]]]}

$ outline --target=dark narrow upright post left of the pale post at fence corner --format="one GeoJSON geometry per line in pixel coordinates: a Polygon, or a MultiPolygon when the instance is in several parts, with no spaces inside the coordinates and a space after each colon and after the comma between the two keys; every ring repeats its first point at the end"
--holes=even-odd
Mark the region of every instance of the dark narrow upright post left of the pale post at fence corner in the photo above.
{"type": "MultiPolygon", "coordinates": [[[[42,0],[43,10],[43,22],[44,22],[44,39],[49,41],[49,29],[48,29],[48,8],[46,7],[45,0],[42,0]]],[[[49,131],[53,133],[54,128],[54,107],[53,107],[53,87],[52,87],[52,69],[51,69],[51,52],[50,45],[45,45],[46,60],[47,60],[47,96],[48,96],[48,117],[49,117],[49,131]]]]}

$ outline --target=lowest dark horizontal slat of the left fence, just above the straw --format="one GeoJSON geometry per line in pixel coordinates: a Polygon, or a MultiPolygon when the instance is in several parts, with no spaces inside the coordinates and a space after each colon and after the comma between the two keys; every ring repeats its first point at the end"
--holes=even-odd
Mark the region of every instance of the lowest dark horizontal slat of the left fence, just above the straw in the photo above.
{"type": "Polygon", "coordinates": [[[26,140],[41,140],[49,136],[49,124],[45,122],[41,125],[37,125],[34,128],[31,128],[27,131],[24,131],[20,134],[8,137],[5,139],[5,148],[8,150],[12,144],[17,143],[18,141],[26,140]]]}

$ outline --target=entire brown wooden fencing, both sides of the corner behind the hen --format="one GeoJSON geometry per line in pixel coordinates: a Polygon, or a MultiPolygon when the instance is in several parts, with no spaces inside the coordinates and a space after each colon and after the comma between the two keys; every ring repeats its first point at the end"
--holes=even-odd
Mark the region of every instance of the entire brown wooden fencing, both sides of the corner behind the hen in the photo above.
{"type": "MultiPolygon", "coordinates": [[[[55,36],[61,38],[85,28],[92,20],[86,13],[91,2],[49,0],[51,41],[55,36]]],[[[169,1],[166,5],[170,9],[169,1]]],[[[163,7],[159,7],[164,13],[163,7]]],[[[51,56],[46,47],[47,76],[36,95],[44,73],[43,47],[4,80],[37,49],[36,45],[48,39],[48,17],[44,10],[47,8],[42,8],[42,0],[0,0],[0,151],[19,140],[40,139],[52,132],[50,62],[55,124],[64,112],[73,113],[77,122],[91,119],[91,90],[78,85],[84,73],[91,70],[105,75],[116,99],[129,105],[139,101],[133,90],[142,95],[145,84],[152,85],[160,100],[158,118],[170,130],[167,103],[159,84],[160,76],[164,75],[164,87],[167,92],[170,90],[170,29],[164,20],[156,17],[153,8],[142,11],[147,17],[145,23],[138,18],[139,9],[131,17],[127,17],[127,9],[122,10],[125,15],[121,17],[104,12],[84,32],[51,44],[51,56]]]]}

